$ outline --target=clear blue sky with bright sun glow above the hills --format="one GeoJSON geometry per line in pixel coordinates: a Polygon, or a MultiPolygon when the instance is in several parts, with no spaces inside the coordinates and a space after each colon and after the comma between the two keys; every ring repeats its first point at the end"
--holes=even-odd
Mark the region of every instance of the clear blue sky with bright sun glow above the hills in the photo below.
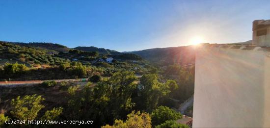
{"type": "Polygon", "coordinates": [[[116,51],[235,43],[270,0],[0,0],[0,40],[116,51]]]}

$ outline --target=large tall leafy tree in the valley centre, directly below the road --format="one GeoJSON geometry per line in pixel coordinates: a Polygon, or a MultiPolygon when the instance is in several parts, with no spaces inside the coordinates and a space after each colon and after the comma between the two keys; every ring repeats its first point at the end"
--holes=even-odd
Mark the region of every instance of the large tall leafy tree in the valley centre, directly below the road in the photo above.
{"type": "Polygon", "coordinates": [[[136,79],[133,72],[117,72],[94,87],[91,98],[94,122],[112,124],[114,119],[124,119],[131,112],[135,106],[132,95],[137,88],[136,79]]]}

